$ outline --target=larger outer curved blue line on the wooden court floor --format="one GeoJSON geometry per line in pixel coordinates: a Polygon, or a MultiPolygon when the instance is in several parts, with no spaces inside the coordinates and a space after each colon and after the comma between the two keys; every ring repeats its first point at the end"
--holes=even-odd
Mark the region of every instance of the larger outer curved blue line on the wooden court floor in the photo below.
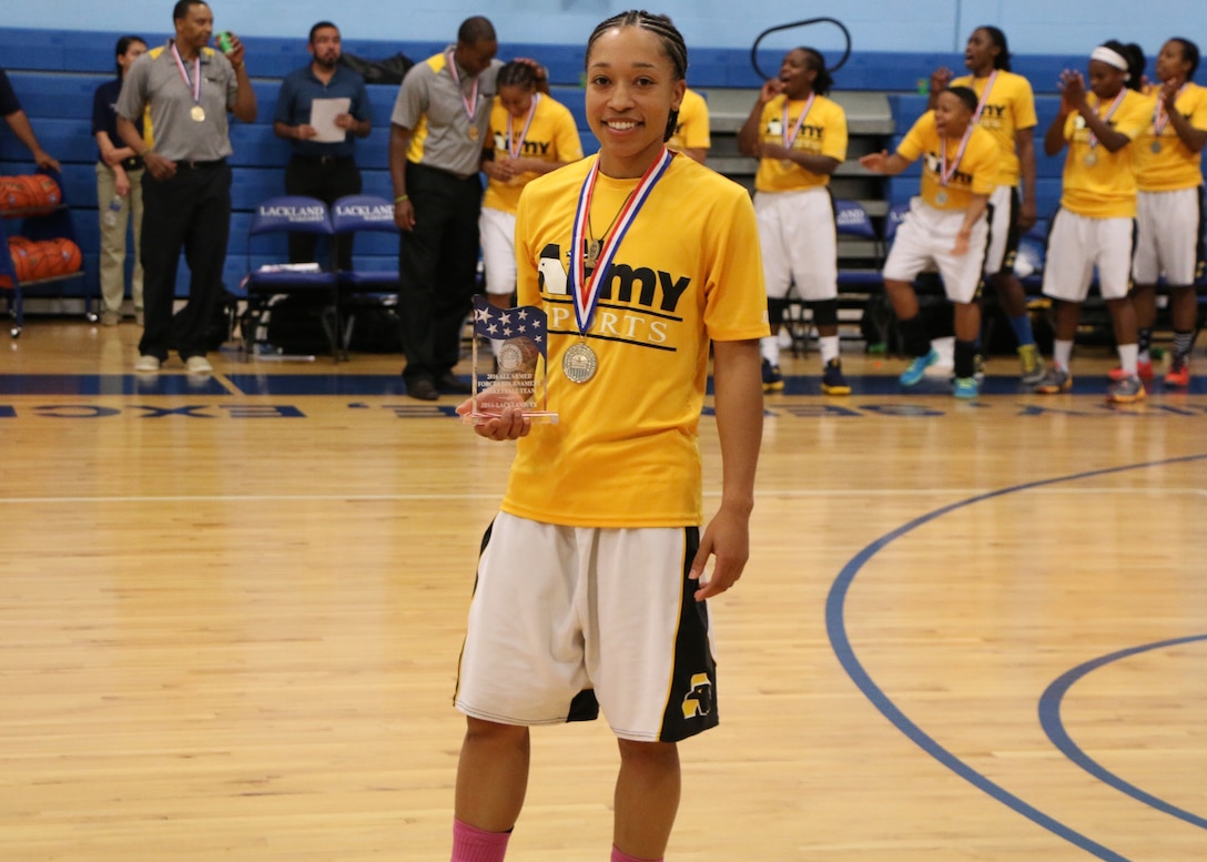
{"type": "Polygon", "coordinates": [[[974,506],[986,500],[1005,496],[1007,494],[1015,494],[1034,488],[1044,488],[1066,482],[1110,476],[1113,473],[1124,473],[1133,470],[1147,470],[1150,467],[1189,464],[1191,461],[1202,460],[1207,460],[1207,454],[1171,458],[1161,461],[1147,461],[1143,464],[1131,464],[1121,467],[1108,467],[1104,470],[1091,470],[1084,473],[1073,473],[1072,476],[1061,476],[1054,479],[1027,482],[1021,485],[979,494],[976,496],[968,497],[967,500],[943,506],[933,512],[928,512],[927,514],[905,523],[896,530],[886,532],[880,538],[865,546],[858,554],[852,557],[845,566],[842,566],[842,570],[839,572],[833,586],[830,587],[829,595],[826,598],[826,630],[829,635],[830,647],[834,650],[834,654],[838,657],[838,660],[842,665],[847,676],[850,676],[855,685],[859,687],[859,691],[863,692],[863,695],[871,701],[873,706],[880,710],[881,715],[892,722],[893,727],[905,734],[905,736],[922,749],[922,751],[928,753],[943,765],[947,767],[947,769],[954,771],[956,775],[964,779],[978,790],[984,791],[993,799],[997,799],[1003,805],[1018,811],[1022,816],[1048,829],[1053,834],[1063,838],[1071,844],[1081,848],[1090,854],[1094,854],[1098,858],[1107,860],[1107,862],[1130,862],[1125,856],[1120,856],[1114,850],[1110,850],[1091,838],[1083,835],[1055,817],[1044,814],[1030,803],[1014,796],[1001,785],[995,784],[989,777],[976,771],[950,751],[944,749],[938,741],[922,730],[922,728],[910,721],[905,714],[902,712],[902,710],[888,698],[888,695],[885,694],[885,692],[873,681],[871,676],[867,670],[864,670],[859,659],[856,657],[855,648],[851,646],[851,639],[846,633],[846,596],[851,589],[851,584],[855,582],[855,576],[858,575],[863,566],[867,565],[867,563],[880,551],[888,547],[902,536],[905,536],[917,528],[928,524],[932,520],[937,520],[951,512],[974,506]]]}

